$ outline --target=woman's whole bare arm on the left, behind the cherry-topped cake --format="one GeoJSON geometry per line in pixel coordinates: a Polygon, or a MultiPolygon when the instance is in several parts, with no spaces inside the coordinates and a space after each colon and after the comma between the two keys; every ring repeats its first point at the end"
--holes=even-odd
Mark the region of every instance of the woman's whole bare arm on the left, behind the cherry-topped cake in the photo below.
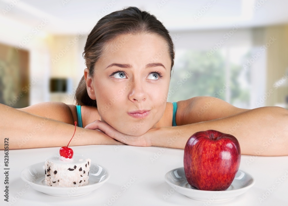
{"type": "MultiPolygon", "coordinates": [[[[42,106],[39,104],[35,107],[42,106]]],[[[61,106],[65,105],[61,104],[60,107],[54,107],[54,111],[49,108],[40,111],[36,108],[33,110],[33,106],[26,109],[14,109],[0,104],[1,141],[4,142],[5,138],[9,138],[9,149],[66,146],[74,132],[74,125],[71,124],[75,118],[69,108],[65,110],[61,106]]],[[[122,143],[113,140],[102,132],[77,127],[70,145],[93,144],[115,145],[122,143]]],[[[0,149],[4,149],[3,144],[1,144],[0,149]]]]}

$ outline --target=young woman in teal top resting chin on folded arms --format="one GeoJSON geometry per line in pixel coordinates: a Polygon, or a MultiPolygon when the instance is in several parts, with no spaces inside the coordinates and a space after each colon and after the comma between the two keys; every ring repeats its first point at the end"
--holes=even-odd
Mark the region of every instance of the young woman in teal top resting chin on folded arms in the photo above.
{"type": "Polygon", "coordinates": [[[9,137],[10,149],[65,146],[77,121],[71,146],[183,149],[192,134],[213,129],[234,135],[242,154],[288,155],[288,111],[283,108],[247,110],[213,97],[167,102],[174,56],[171,37],[155,16],[135,7],[108,14],[88,35],[77,106],[1,105],[1,138],[9,137]]]}

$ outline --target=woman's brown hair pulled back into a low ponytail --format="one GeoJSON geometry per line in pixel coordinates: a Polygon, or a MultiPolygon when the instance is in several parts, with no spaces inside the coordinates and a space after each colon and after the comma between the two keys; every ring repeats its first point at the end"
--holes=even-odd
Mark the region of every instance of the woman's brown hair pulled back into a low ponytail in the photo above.
{"type": "MultiPolygon", "coordinates": [[[[172,70],[175,50],[169,31],[154,15],[137,7],[128,7],[104,16],[89,33],[83,56],[90,76],[93,76],[96,61],[103,55],[105,44],[119,35],[129,33],[155,33],[162,37],[168,45],[172,70]]],[[[75,100],[78,105],[97,106],[96,100],[90,99],[87,93],[84,76],[76,89],[75,100]]]]}

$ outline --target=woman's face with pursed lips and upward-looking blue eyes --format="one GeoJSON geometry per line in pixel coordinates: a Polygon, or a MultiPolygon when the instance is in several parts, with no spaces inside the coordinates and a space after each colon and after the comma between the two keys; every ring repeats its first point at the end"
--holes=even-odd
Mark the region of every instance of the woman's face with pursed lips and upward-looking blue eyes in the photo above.
{"type": "Polygon", "coordinates": [[[91,79],[86,79],[101,121],[124,134],[142,135],[165,111],[171,68],[168,46],[156,34],[127,34],[107,43],[103,54],[91,79]]]}

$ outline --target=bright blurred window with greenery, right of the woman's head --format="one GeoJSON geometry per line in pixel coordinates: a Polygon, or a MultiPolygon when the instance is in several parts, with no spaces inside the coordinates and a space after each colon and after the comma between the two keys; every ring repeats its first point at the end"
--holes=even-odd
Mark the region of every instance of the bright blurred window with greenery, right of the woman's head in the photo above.
{"type": "Polygon", "coordinates": [[[212,96],[250,108],[251,70],[243,68],[250,50],[249,46],[226,47],[208,57],[207,50],[176,49],[168,101],[212,96]]]}

